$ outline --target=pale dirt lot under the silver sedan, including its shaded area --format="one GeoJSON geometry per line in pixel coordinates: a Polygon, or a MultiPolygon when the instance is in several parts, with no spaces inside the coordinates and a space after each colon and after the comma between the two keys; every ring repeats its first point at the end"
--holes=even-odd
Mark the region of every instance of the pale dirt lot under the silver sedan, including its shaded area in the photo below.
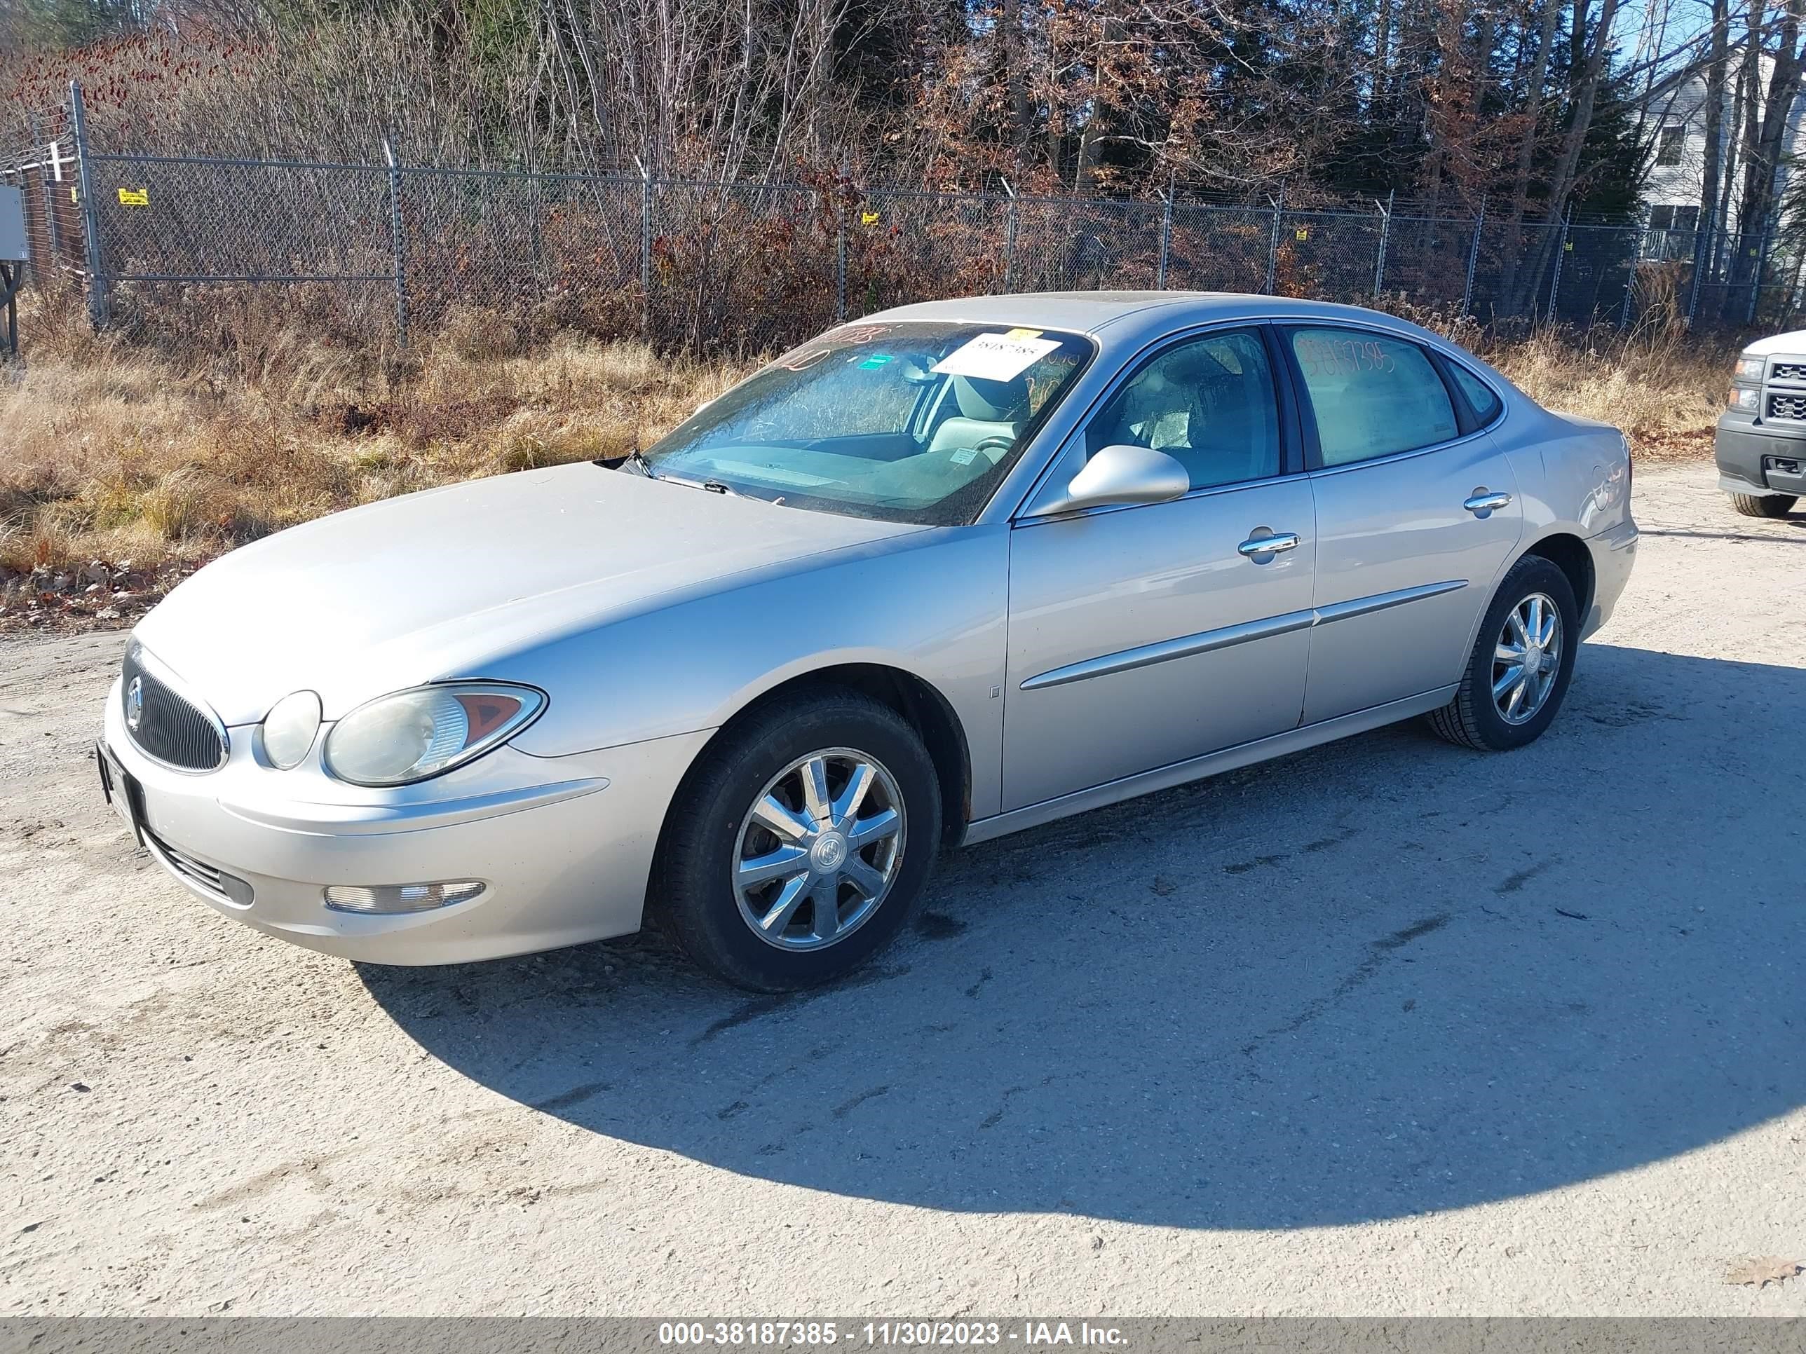
{"type": "Polygon", "coordinates": [[[1806,516],[1643,473],[1535,747],[1412,726],[948,861],[863,980],[354,968],[0,648],[0,1312],[1806,1312],[1806,516]]]}

